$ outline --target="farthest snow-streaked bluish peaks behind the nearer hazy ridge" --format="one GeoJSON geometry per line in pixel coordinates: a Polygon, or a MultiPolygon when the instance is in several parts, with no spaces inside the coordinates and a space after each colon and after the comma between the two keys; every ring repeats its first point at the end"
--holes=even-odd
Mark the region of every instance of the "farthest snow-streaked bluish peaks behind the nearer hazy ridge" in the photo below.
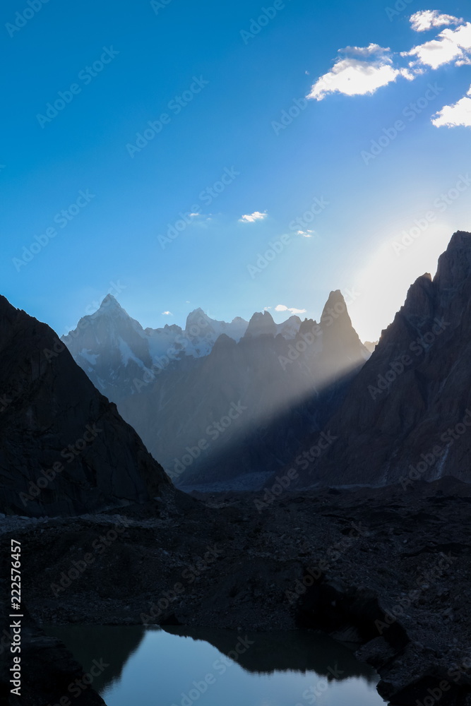
{"type": "Polygon", "coordinates": [[[291,340],[300,325],[298,316],[277,325],[269,314],[255,314],[250,322],[237,316],[226,323],[195,309],[186,319],[184,329],[177,325],[143,329],[108,294],[100,309],[81,318],[76,329],[61,340],[95,386],[109,400],[118,402],[139,392],[142,383],[155,379],[175,361],[187,358],[190,363],[192,359],[207,356],[221,335],[238,342],[244,335],[280,333],[291,340]]]}

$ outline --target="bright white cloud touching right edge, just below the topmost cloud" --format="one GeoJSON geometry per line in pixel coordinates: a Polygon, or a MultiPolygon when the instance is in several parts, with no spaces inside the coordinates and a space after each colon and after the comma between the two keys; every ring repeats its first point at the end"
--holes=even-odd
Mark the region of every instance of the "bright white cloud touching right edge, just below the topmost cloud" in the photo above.
{"type": "Polygon", "coordinates": [[[457,66],[467,64],[471,51],[471,22],[455,30],[442,30],[437,39],[419,44],[402,56],[417,56],[419,64],[439,68],[454,61],[457,66]]]}

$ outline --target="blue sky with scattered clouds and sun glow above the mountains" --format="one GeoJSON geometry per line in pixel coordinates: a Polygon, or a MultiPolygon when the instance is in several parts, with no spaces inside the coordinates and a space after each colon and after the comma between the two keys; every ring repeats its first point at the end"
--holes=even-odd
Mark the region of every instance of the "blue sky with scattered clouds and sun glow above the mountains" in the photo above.
{"type": "Polygon", "coordinates": [[[471,230],[471,12],[397,5],[5,1],[1,293],[62,334],[116,287],[153,327],[342,289],[378,337],[471,230]]]}

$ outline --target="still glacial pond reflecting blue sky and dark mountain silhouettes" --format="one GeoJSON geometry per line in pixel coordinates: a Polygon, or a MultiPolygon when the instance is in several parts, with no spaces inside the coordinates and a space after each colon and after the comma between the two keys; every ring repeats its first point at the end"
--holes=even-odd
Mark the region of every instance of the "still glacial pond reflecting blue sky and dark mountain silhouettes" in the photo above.
{"type": "Polygon", "coordinates": [[[380,706],[378,675],[310,631],[54,626],[107,706],[380,706]]]}

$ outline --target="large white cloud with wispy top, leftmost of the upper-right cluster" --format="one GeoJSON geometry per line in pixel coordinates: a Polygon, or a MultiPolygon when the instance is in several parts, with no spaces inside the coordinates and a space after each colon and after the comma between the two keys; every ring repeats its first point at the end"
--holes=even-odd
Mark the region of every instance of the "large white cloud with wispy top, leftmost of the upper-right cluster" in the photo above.
{"type": "Polygon", "coordinates": [[[389,56],[390,49],[380,47],[379,44],[345,47],[339,49],[339,52],[362,58],[348,56],[345,59],[337,59],[332,70],[314,83],[308,98],[322,100],[328,93],[336,91],[344,95],[365,95],[395,81],[398,76],[409,80],[414,78],[407,68],[395,68],[389,56]]]}

